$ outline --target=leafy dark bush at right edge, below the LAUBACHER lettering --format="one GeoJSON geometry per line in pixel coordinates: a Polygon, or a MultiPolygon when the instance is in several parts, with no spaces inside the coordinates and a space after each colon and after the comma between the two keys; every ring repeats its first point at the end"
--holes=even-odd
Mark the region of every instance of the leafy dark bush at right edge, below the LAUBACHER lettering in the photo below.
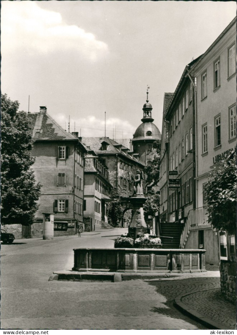
{"type": "Polygon", "coordinates": [[[205,185],[207,213],[211,224],[230,234],[236,231],[236,153],[208,175],[205,185]]]}

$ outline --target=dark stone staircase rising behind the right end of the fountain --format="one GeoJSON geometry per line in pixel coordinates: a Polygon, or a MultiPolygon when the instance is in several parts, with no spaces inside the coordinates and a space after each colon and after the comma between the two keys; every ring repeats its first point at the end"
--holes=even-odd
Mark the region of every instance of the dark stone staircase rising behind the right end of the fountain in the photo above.
{"type": "Polygon", "coordinates": [[[183,225],[177,222],[160,223],[161,243],[164,249],[179,249],[180,237],[183,230],[183,225]],[[173,239],[169,239],[172,237],[173,239]]]}

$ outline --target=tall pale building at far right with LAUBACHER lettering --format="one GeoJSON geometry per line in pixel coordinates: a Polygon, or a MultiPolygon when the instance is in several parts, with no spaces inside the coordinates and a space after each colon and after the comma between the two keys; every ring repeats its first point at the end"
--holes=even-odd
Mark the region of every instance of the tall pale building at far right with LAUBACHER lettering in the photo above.
{"type": "Polygon", "coordinates": [[[218,232],[211,229],[205,213],[204,186],[208,173],[218,169],[236,149],[236,17],[188,75],[196,81],[196,207],[202,220],[192,228],[192,241],[189,239],[185,247],[199,246],[201,241],[207,250],[207,262],[218,264],[218,249],[221,259],[233,256],[227,250],[233,249],[235,237],[222,232],[218,240],[218,232]]]}

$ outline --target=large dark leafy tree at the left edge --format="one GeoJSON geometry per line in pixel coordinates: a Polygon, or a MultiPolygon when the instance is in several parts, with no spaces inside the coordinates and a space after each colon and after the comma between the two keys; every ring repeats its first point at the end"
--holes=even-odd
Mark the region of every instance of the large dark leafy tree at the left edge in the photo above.
{"type": "Polygon", "coordinates": [[[32,139],[25,112],[18,101],[1,96],[1,219],[4,224],[31,224],[37,210],[40,185],[31,165],[32,139]]]}

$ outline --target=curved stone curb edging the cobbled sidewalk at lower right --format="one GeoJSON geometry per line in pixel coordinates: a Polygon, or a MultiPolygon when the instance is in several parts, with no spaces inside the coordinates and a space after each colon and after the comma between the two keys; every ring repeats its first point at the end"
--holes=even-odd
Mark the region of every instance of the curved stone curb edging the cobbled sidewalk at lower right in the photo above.
{"type": "Polygon", "coordinates": [[[211,328],[211,329],[226,329],[225,326],[223,326],[222,324],[213,321],[211,319],[209,319],[208,317],[203,316],[202,314],[200,314],[199,312],[193,310],[192,308],[190,308],[188,305],[184,304],[182,302],[182,298],[184,298],[187,295],[193,294],[193,293],[198,293],[198,292],[203,292],[203,291],[210,291],[210,290],[215,290],[216,288],[210,288],[207,290],[199,290],[199,291],[193,291],[190,292],[188,294],[185,295],[178,295],[175,298],[175,302],[174,302],[174,306],[176,308],[178,308],[179,310],[181,310],[181,312],[184,312],[185,314],[188,314],[190,317],[194,318],[195,320],[199,321],[200,323],[202,323],[203,325],[211,328]]]}

